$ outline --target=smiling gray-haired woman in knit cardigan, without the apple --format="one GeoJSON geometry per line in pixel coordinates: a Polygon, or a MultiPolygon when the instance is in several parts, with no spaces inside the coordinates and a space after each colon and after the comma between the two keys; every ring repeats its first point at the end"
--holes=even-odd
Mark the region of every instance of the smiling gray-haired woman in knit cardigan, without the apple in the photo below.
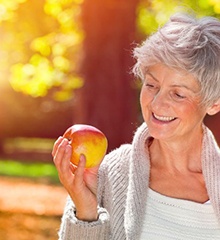
{"type": "Polygon", "coordinates": [[[220,239],[220,150],[203,124],[220,111],[220,22],[172,16],[134,50],[144,123],[98,168],[53,149],[69,193],[59,239],[220,239]]]}

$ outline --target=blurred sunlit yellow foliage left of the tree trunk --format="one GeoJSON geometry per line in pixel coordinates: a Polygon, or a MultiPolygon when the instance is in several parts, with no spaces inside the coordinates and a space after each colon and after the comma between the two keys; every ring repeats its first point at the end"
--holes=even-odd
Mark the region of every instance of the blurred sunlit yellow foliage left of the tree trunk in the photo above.
{"type": "MultiPolygon", "coordinates": [[[[9,80],[16,91],[65,101],[83,86],[77,74],[82,0],[0,1],[9,80]],[[12,36],[13,35],[13,36],[12,36]]],[[[0,11],[1,12],[1,11],[0,11]]],[[[3,51],[2,50],[2,51],[3,51]]]]}

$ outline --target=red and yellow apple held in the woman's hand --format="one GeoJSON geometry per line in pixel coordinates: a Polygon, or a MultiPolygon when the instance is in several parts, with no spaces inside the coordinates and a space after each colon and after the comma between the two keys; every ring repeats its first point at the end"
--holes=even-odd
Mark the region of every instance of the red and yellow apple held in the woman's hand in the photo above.
{"type": "Polygon", "coordinates": [[[72,146],[71,162],[78,165],[79,157],[86,157],[86,168],[98,166],[106,154],[108,141],[99,129],[85,124],[75,124],[63,134],[72,146]]]}

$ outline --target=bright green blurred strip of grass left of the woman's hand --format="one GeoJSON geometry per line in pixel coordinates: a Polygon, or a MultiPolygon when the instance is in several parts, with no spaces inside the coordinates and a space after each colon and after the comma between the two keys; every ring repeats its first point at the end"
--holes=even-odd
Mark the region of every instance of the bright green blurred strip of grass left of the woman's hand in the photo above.
{"type": "Polygon", "coordinates": [[[49,182],[59,182],[57,170],[50,163],[23,163],[10,159],[0,159],[0,175],[33,179],[43,178],[49,182]]]}

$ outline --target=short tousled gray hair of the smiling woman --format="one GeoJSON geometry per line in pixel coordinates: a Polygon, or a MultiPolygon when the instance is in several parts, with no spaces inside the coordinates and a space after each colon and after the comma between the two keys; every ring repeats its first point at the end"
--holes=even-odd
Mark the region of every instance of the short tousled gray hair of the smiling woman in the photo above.
{"type": "Polygon", "coordinates": [[[220,21],[178,13],[134,49],[133,68],[142,80],[149,66],[163,63],[192,74],[201,87],[202,102],[220,99],[220,21]]]}

